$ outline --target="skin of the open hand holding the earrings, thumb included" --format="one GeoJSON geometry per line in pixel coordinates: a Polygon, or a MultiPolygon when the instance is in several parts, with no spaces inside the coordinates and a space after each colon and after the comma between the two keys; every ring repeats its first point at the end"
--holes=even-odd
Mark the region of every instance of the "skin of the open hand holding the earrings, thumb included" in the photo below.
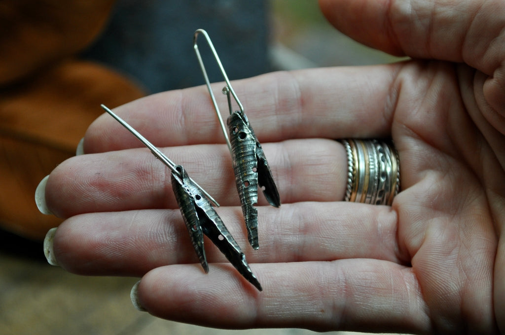
{"type": "Polygon", "coordinates": [[[207,326],[505,332],[505,3],[320,4],[349,36],[414,60],[233,83],[283,202],[259,203],[258,251],[204,86],[115,109],[221,203],[263,292],[208,242],[209,274],[194,264],[168,169],[107,115],[86,132],[86,154],[47,180],[48,208],[67,218],[58,263],[142,276],[149,313],[207,326]],[[391,207],[341,201],[346,155],[332,139],[347,137],[394,140],[391,207]]]}

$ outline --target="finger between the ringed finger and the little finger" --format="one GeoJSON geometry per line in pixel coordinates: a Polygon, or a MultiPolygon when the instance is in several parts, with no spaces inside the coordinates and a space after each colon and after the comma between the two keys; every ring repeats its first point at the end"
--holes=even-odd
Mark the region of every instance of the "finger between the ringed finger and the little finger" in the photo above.
{"type": "MultiPolygon", "coordinates": [[[[396,213],[387,206],[306,202],[259,207],[257,251],[248,247],[240,207],[218,212],[249,263],[405,259],[396,245],[396,213]]],[[[198,262],[175,209],[77,215],[58,228],[53,241],[57,262],[80,274],[142,275],[162,265],[198,262]]],[[[209,240],[205,249],[209,262],[227,262],[209,240]]]]}

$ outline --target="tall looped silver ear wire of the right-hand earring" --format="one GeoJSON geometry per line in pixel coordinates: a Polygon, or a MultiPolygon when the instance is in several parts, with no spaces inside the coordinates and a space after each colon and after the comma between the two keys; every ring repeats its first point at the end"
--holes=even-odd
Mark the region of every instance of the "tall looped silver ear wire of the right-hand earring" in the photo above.
{"type": "Polygon", "coordinates": [[[224,71],[223,64],[221,63],[221,60],[219,59],[218,53],[216,52],[216,49],[214,48],[214,44],[212,44],[209,34],[207,34],[207,31],[205,31],[204,29],[197,29],[193,35],[194,52],[196,53],[196,58],[198,59],[198,63],[200,64],[201,72],[204,75],[205,83],[207,84],[207,89],[209,90],[209,94],[211,95],[212,103],[214,104],[214,108],[216,109],[216,114],[218,116],[219,123],[221,124],[221,129],[223,130],[224,137],[226,139],[226,144],[228,144],[228,149],[231,152],[232,150],[231,150],[230,138],[228,137],[228,133],[226,131],[226,127],[224,125],[223,118],[221,117],[221,112],[219,111],[216,97],[214,96],[214,93],[212,92],[211,82],[209,80],[209,76],[207,75],[207,71],[205,70],[204,61],[201,59],[200,50],[198,49],[197,40],[198,40],[199,34],[204,35],[205,39],[207,40],[207,43],[209,44],[209,47],[211,48],[212,54],[214,55],[214,59],[216,60],[218,67],[221,70],[221,74],[223,75],[223,78],[226,82],[226,86],[223,88],[223,94],[226,94],[228,96],[228,107],[230,109],[230,115],[233,113],[233,109],[231,107],[230,93],[233,96],[233,98],[235,99],[235,102],[237,103],[238,107],[240,108],[241,115],[244,115],[244,107],[242,106],[242,103],[240,103],[240,100],[238,99],[237,94],[235,93],[235,91],[233,90],[233,87],[231,86],[230,80],[228,79],[228,76],[226,75],[226,71],[224,71]]]}

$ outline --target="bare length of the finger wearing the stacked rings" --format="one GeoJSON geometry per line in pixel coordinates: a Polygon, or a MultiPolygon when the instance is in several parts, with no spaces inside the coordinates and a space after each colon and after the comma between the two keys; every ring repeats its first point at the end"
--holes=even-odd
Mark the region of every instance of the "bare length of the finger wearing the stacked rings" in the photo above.
{"type": "MultiPolygon", "coordinates": [[[[267,143],[263,148],[283,203],[343,199],[347,159],[339,142],[291,140],[267,143]]],[[[239,204],[225,145],[173,147],[164,151],[221,205],[239,204]]],[[[49,176],[45,199],[49,210],[60,217],[178,208],[170,174],[147,149],[76,156],[60,164],[49,176]]],[[[263,194],[258,198],[260,205],[266,204],[263,194]]]]}

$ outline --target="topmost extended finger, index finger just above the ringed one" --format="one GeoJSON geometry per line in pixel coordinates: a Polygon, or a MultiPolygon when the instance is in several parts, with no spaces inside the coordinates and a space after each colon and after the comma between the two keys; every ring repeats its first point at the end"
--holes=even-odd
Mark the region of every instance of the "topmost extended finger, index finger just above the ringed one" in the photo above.
{"type": "MultiPolygon", "coordinates": [[[[382,137],[389,135],[389,98],[397,65],[276,72],[233,82],[261,142],[291,138],[382,137]]],[[[222,84],[214,85],[220,92],[222,84]]],[[[220,94],[221,95],[221,94],[220,94]]],[[[223,118],[227,100],[217,97],[223,118]]],[[[204,86],[163,92],[115,109],[157,146],[224,143],[204,86]]],[[[86,153],[139,147],[113,118],[103,115],[88,129],[86,153]]]]}

